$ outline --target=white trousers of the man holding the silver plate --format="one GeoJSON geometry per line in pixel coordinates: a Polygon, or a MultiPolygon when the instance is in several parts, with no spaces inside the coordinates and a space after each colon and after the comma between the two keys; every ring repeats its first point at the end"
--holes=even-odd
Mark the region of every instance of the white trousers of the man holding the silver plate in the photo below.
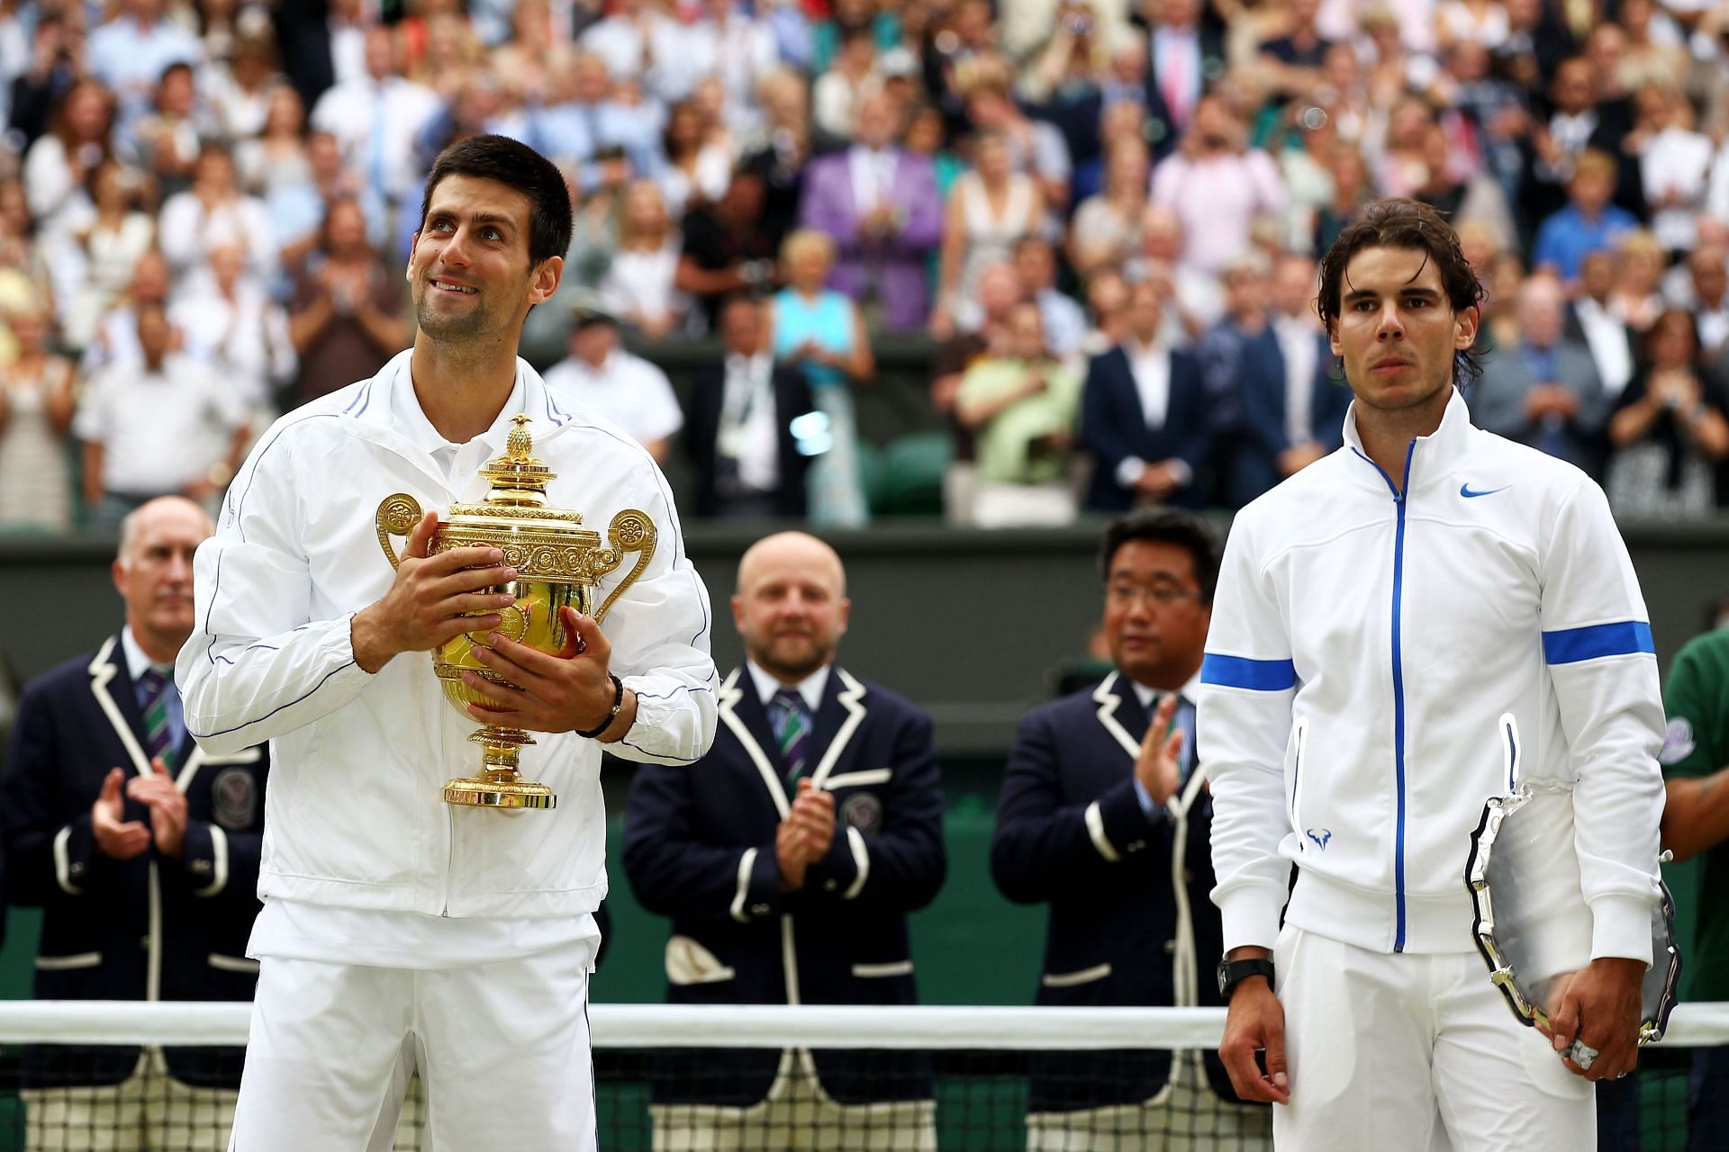
{"type": "Polygon", "coordinates": [[[1520,1024],[1475,952],[1366,952],[1285,926],[1279,1152],[1592,1152],[1596,1090],[1520,1024]]]}

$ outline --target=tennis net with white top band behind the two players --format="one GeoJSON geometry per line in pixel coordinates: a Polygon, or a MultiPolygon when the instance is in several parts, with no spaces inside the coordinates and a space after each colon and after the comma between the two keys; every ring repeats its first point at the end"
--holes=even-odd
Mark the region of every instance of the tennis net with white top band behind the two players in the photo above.
{"type": "MultiPolygon", "coordinates": [[[[226,1147],[246,1003],[0,1003],[0,1150],[226,1147]]],[[[591,1007],[600,1147],[1255,1152],[1264,1107],[1205,1059],[1215,1009],[591,1007]]],[[[1682,1005],[1599,1093],[1605,1152],[1684,1152],[1696,1047],[1729,1003],[1682,1005]]],[[[424,1143],[410,1085],[396,1149],[424,1143]]],[[[1726,1147],[1700,1143],[1689,1152],[1726,1147]]]]}

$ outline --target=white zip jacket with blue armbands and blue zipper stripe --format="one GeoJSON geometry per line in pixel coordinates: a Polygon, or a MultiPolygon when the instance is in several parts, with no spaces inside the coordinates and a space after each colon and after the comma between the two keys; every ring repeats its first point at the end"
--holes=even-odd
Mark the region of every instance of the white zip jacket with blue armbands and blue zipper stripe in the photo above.
{"type": "Polygon", "coordinates": [[[1273,946],[1295,862],[1297,927],[1470,950],[1470,838],[1516,774],[1572,789],[1591,955],[1649,964],[1663,705],[1603,491],[1458,394],[1404,468],[1399,497],[1352,408],[1231,527],[1196,741],[1224,946],[1273,946]]]}

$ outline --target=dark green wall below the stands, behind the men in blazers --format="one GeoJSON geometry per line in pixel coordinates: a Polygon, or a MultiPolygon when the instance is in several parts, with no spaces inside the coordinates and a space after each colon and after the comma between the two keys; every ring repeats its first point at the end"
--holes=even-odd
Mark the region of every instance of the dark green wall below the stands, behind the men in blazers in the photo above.
{"type": "MultiPolygon", "coordinates": [[[[1729,596],[1729,522],[1624,525],[1663,667],[1729,596]]],[[[692,527],[690,554],[716,610],[714,658],[740,658],[728,596],[757,532],[692,527]]],[[[1058,665],[1079,655],[1100,617],[1098,525],[1051,532],[956,532],[885,525],[830,537],[847,565],[852,630],[842,660],[920,701],[935,720],[947,796],[949,881],[913,917],[923,997],[935,1003],[1025,1003],[1037,978],[1043,912],[1008,905],[991,884],[987,845],[996,782],[1018,715],[1050,698],[1058,665]]],[[[107,577],[112,539],[0,541],[0,653],[22,677],[93,648],[119,625],[107,577]]],[[[379,563],[384,563],[382,558],[379,563]]],[[[1347,591],[1349,594],[1349,591],[1347,591]]],[[[628,765],[605,774],[619,843],[628,765]]],[[[629,900],[614,869],[614,948],[595,995],[659,1000],[664,922],[629,900]]],[[[1684,879],[1684,877],[1682,877],[1684,879]]],[[[1677,896],[1682,893],[1677,891],[1677,896]]],[[[1682,900],[1684,907],[1684,900],[1682,900]]],[[[35,914],[14,910],[0,952],[0,995],[29,995],[35,914]]]]}

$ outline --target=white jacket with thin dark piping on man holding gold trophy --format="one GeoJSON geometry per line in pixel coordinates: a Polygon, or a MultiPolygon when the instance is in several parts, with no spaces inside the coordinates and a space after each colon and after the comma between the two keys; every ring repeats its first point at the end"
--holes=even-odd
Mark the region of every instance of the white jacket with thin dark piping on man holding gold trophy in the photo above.
{"type": "MultiPolygon", "coordinates": [[[[379,501],[408,492],[444,511],[484,499],[488,484],[474,473],[505,451],[515,415],[507,408],[463,449],[453,487],[392,420],[392,390],[413,387],[408,358],[278,420],[235,477],[194,570],[197,623],[175,670],[187,727],[209,753],[271,741],[259,896],[453,917],[581,915],[607,893],[600,746],[534,732],[522,772],[558,793],[550,812],[446,805],[444,781],[481,767],[467,739],[477,724],[444,701],[425,653],[403,653],[377,675],[354,663],[349,620],[394,579],[379,548],[379,501]]],[[[612,670],[636,691],[636,724],[609,751],[690,763],[714,739],[718,677],[709,596],[666,480],[633,439],[572,409],[520,359],[517,382],[533,453],[558,473],[550,503],[581,511],[602,539],[626,508],[659,529],[652,563],[603,622],[612,670]]],[[[603,592],[635,561],[626,554],[603,592]]]]}

